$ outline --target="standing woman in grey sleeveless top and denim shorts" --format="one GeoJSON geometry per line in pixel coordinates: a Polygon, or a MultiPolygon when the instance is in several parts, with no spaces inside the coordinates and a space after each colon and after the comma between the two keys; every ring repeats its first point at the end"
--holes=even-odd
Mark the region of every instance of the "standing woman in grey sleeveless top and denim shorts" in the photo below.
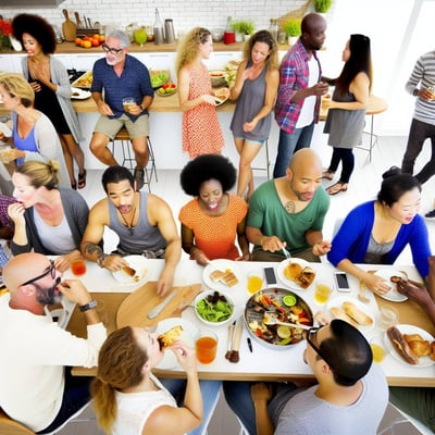
{"type": "Polygon", "coordinates": [[[231,129],[240,156],[237,195],[253,192],[251,163],[271,132],[272,109],[279,85],[276,41],[268,30],[253,34],[245,45],[244,60],[231,88],[237,100],[231,129]]]}

